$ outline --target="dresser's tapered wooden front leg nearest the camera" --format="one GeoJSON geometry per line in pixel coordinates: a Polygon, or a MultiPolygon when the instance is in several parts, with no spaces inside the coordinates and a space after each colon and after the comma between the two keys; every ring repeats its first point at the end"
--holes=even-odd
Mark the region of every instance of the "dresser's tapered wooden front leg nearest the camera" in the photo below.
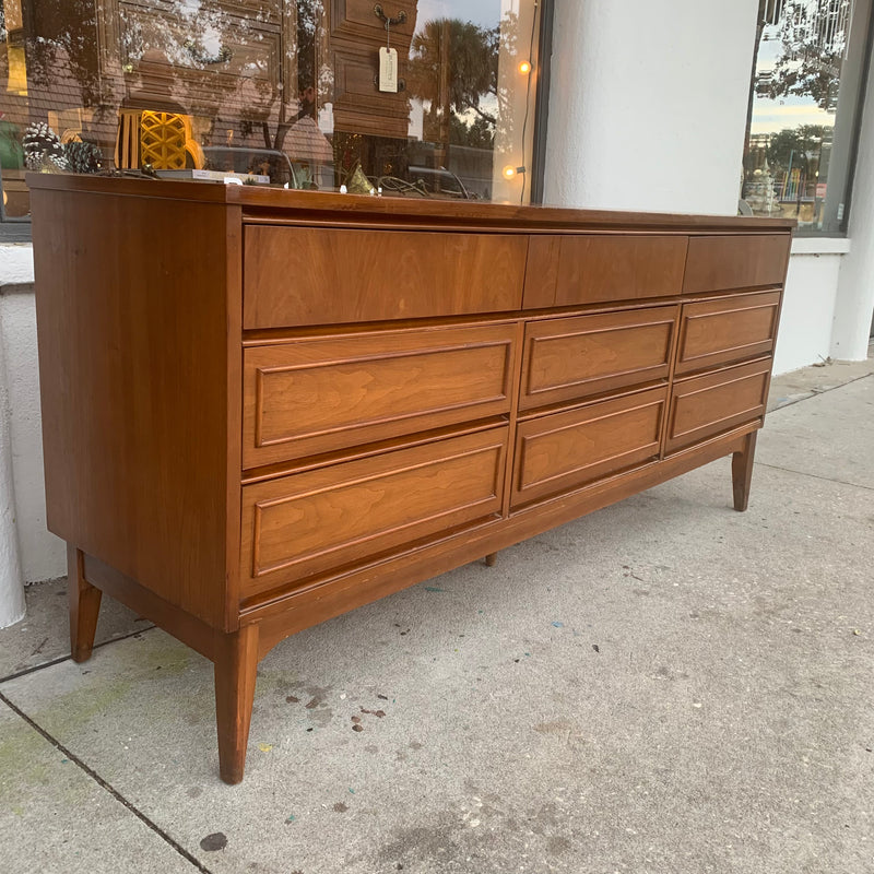
{"type": "Polygon", "coordinates": [[[218,772],[226,783],[240,782],[246,768],[257,668],[258,626],[224,635],[215,654],[215,722],[218,772]]]}

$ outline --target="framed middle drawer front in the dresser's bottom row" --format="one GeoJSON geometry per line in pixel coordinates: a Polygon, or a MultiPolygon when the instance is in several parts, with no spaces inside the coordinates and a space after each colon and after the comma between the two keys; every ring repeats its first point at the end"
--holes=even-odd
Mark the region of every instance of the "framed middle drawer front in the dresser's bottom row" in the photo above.
{"type": "Polygon", "coordinates": [[[666,400],[666,388],[650,389],[521,423],[511,506],[654,460],[666,400]]]}

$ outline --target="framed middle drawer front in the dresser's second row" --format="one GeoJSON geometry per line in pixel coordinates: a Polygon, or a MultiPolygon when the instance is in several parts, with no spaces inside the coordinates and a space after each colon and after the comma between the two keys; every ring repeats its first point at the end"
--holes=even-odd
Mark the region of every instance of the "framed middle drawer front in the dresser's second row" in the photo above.
{"type": "Polygon", "coordinates": [[[677,307],[531,322],[519,406],[666,379],[677,307]]]}

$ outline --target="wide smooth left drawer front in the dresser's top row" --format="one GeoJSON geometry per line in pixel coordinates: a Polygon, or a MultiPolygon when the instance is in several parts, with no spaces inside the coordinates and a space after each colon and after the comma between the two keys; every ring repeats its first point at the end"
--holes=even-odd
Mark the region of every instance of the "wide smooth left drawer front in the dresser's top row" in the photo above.
{"type": "Polygon", "coordinates": [[[246,228],[244,328],[519,309],[528,236],[246,228]]]}

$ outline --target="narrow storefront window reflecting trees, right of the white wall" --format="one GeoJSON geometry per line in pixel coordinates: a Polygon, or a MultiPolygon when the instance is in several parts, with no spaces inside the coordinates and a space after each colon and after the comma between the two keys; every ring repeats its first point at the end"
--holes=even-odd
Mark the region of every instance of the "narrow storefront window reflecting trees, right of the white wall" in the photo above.
{"type": "Polygon", "coordinates": [[[742,206],[846,231],[870,0],[760,0],[742,206]]]}

